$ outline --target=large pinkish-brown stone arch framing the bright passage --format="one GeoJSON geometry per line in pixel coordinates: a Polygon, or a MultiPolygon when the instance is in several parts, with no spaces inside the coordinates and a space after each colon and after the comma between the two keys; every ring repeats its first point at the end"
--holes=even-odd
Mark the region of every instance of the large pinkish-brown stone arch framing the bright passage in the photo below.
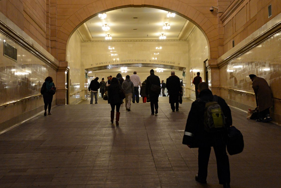
{"type": "MultiPolygon", "coordinates": [[[[217,58],[219,56],[219,29],[217,15],[210,16],[210,3],[196,3],[192,0],[165,0],[165,1],[153,1],[153,0],[92,0],[94,2],[85,4],[75,4],[75,0],[69,0],[68,4],[71,6],[65,6],[64,12],[58,10],[57,17],[57,30],[56,30],[56,49],[52,51],[54,55],[60,61],[60,69],[67,67],[66,52],[67,43],[75,30],[85,23],[85,21],[97,16],[101,12],[115,10],[126,7],[150,7],[175,12],[176,14],[184,17],[195,24],[201,32],[205,35],[209,50],[209,65],[216,66],[217,58]],[[70,8],[71,7],[71,8],[70,8]],[[61,14],[61,15],[60,15],[61,14]],[[55,54],[54,54],[55,53],[55,54]]],[[[90,1],[91,2],[91,1],[90,1]]],[[[214,6],[216,6],[214,4],[214,6]]],[[[62,7],[62,5],[60,6],[62,7]]],[[[216,14],[216,13],[215,13],[216,14]]],[[[215,67],[214,67],[215,68],[215,67]]],[[[57,74],[58,80],[64,80],[64,71],[60,71],[57,74]]],[[[60,83],[60,82],[59,82],[60,83]]],[[[58,84],[59,84],[58,83],[58,84]]],[[[64,83],[62,83],[64,85],[64,83]]],[[[64,93],[57,93],[58,99],[65,98],[64,93]]],[[[60,102],[58,102],[59,104],[60,102]]]]}

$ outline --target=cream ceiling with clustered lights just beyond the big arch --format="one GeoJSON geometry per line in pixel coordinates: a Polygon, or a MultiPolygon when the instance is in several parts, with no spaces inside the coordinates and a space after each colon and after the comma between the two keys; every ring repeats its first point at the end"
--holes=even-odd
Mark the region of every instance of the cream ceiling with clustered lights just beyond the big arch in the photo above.
{"type": "Polygon", "coordinates": [[[159,39],[161,33],[166,35],[166,39],[186,38],[194,24],[179,15],[168,18],[167,13],[165,10],[148,7],[122,8],[106,12],[106,19],[93,17],[81,25],[78,30],[83,40],[87,41],[106,41],[106,34],[111,34],[112,40],[159,39]],[[164,23],[169,23],[171,28],[163,30],[164,23]],[[110,30],[103,31],[103,24],[108,24],[110,30]]]}

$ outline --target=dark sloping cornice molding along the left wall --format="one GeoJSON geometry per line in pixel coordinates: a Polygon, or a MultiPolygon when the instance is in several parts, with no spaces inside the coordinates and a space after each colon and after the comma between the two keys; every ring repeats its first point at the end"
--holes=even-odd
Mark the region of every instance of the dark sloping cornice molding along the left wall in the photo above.
{"type": "Polygon", "coordinates": [[[49,59],[44,53],[40,52],[37,48],[35,48],[32,44],[26,41],[23,37],[18,35],[15,31],[9,28],[6,24],[0,21],[0,32],[3,33],[6,37],[10,38],[14,42],[16,42],[19,46],[33,54],[35,57],[51,66],[55,70],[58,70],[59,66],[49,59]]]}

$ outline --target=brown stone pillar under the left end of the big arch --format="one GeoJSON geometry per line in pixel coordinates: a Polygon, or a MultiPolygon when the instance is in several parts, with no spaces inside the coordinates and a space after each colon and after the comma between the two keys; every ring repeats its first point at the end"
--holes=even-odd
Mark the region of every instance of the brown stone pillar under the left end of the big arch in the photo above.
{"type": "Polygon", "coordinates": [[[65,104],[65,71],[69,71],[68,62],[60,61],[60,67],[56,73],[56,103],[65,104]]]}

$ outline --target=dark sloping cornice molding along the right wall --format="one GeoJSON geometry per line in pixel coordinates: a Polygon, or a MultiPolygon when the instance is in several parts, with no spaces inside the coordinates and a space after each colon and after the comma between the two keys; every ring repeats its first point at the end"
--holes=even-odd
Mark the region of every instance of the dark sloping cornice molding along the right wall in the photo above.
{"type": "Polygon", "coordinates": [[[237,59],[241,55],[249,52],[251,49],[259,46],[262,42],[270,39],[273,35],[275,35],[279,32],[281,32],[281,22],[279,22],[278,24],[276,24],[275,26],[273,26],[271,29],[267,30],[266,32],[262,33],[261,35],[259,35],[255,39],[253,39],[251,42],[249,42],[248,44],[246,44],[245,46],[243,46],[236,52],[232,53],[230,56],[226,57],[224,60],[219,62],[217,64],[217,66],[220,68],[220,67],[224,66],[225,64],[228,64],[229,62],[237,59]]]}

